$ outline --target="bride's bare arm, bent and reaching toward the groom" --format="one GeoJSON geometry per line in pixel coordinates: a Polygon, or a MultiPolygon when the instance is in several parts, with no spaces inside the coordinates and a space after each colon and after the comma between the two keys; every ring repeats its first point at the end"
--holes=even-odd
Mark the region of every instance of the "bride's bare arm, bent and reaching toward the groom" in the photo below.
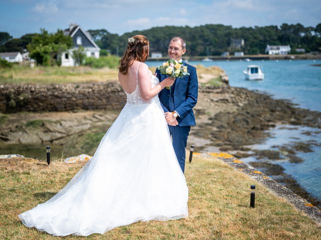
{"type": "Polygon", "coordinates": [[[138,87],[142,99],[145,101],[157,95],[166,86],[171,86],[174,83],[175,78],[166,78],[159,82],[154,87],[151,87],[150,71],[145,63],[142,63],[138,67],[138,87]]]}

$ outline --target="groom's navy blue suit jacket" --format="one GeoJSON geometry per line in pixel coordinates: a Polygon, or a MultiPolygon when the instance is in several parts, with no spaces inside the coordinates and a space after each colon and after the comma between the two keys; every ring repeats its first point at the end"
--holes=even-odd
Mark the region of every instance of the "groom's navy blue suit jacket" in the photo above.
{"type": "MultiPolygon", "coordinates": [[[[177,117],[177,120],[180,126],[191,126],[196,124],[192,108],[197,102],[198,79],[196,67],[184,61],[183,64],[187,65],[187,71],[190,75],[176,78],[174,91],[172,91],[173,86],[170,90],[165,87],[158,93],[158,97],[165,112],[177,111],[179,113],[180,116],[177,117]],[[172,104],[174,109],[171,108],[170,101],[174,102],[172,104]]],[[[168,77],[166,74],[161,74],[158,69],[156,69],[156,73],[159,82],[168,77]]]]}

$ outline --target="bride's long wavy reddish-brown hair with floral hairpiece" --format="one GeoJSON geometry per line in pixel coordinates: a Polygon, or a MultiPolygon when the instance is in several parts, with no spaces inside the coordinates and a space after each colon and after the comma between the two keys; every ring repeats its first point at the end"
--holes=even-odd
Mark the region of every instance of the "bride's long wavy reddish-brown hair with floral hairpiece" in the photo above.
{"type": "Polygon", "coordinates": [[[126,74],[128,67],[134,60],[144,62],[148,57],[149,40],[144,35],[134,35],[128,38],[128,46],[124,55],[120,58],[119,72],[126,74]]]}

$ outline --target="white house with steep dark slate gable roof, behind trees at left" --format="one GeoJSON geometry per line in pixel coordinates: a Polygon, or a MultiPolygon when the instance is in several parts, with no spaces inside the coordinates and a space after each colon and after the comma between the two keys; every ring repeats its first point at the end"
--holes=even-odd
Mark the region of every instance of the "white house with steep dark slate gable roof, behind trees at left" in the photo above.
{"type": "Polygon", "coordinates": [[[73,47],[67,52],[63,52],[63,54],[61,55],[62,66],[75,65],[75,61],[72,57],[72,52],[74,50],[77,50],[79,46],[84,47],[84,53],[86,54],[86,56],[99,58],[99,46],[97,46],[90,33],[82,29],[80,25],[70,24],[69,28],[64,30],[64,34],[72,37],[73,47]]]}

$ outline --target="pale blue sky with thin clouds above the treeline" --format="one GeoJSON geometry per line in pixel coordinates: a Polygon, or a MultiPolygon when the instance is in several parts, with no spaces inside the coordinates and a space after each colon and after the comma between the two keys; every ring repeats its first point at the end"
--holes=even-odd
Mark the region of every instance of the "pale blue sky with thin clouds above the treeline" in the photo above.
{"type": "Polygon", "coordinates": [[[70,23],[118,34],[165,25],[316,26],[320,12],[320,0],[0,0],[0,31],[21,37],[70,23]]]}

